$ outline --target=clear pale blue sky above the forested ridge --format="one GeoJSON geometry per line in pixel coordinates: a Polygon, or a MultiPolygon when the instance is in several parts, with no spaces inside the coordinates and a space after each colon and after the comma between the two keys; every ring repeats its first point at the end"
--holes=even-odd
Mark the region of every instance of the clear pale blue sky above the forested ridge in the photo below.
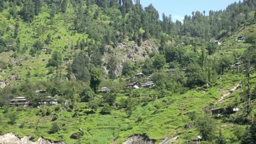
{"type": "Polygon", "coordinates": [[[153,4],[161,19],[162,13],[171,14],[173,21],[183,21],[184,16],[191,15],[193,11],[206,11],[208,15],[210,10],[223,10],[234,2],[239,0],[140,0],[143,7],[153,4]]]}

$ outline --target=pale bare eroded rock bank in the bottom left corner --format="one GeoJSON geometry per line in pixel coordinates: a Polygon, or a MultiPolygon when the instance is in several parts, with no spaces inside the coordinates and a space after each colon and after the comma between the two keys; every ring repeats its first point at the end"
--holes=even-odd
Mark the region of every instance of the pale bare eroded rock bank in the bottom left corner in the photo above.
{"type": "Polygon", "coordinates": [[[65,144],[63,141],[52,141],[48,139],[44,139],[40,137],[37,141],[32,141],[30,136],[26,136],[23,138],[19,138],[14,133],[7,133],[4,135],[0,135],[0,143],[1,144],[65,144]]]}

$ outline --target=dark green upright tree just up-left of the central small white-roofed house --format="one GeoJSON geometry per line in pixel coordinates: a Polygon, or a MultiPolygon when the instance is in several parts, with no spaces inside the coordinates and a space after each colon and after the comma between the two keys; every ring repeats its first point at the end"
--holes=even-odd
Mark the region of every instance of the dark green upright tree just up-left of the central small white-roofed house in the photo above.
{"type": "Polygon", "coordinates": [[[94,90],[94,92],[97,92],[99,89],[99,85],[102,81],[103,76],[103,70],[102,68],[92,68],[91,69],[91,83],[90,86],[94,90]]]}

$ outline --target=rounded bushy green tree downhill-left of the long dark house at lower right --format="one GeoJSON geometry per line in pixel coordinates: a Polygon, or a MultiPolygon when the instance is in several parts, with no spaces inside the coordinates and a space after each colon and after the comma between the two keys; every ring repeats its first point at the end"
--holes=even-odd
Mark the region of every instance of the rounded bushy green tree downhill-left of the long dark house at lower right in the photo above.
{"type": "Polygon", "coordinates": [[[215,121],[209,115],[198,116],[195,121],[196,129],[201,134],[203,140],[213,140],[215,132],[215,121]]]}

